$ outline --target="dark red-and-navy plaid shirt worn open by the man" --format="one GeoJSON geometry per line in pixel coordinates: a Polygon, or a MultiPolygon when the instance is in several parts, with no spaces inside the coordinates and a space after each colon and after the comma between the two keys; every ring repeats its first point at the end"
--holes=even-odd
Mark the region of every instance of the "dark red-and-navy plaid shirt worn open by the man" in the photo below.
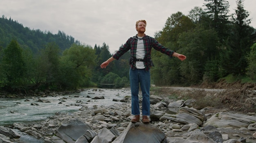
{"type": "MultiPolygon", "coordinates": [[[[145,68],[146,71],[148,71],[150,69],[150,67],[153,66],[153,63],[152,63],[152,60],[151,60],[151,49],[152,49],[152,47],[155,50],[160,51],[160,52],[172,57],[174,52],[172,50],[169,50],[168,48],[165,48],[155,38],[144,34],[144,37],[142,37],[142,39],[144,41],[144,48],[145,48],[144,66],[146,67],[145,68]]],[[[136,50],[137,50],[137,41],[138,41],[137,35],[134,36],[134,37],[130,37],[126,41],[126,43],[123,45],[123,47],[120,48],[113,55],[113,58],[118,60],[124,53],[128,52],[128,50],[130,50],[131,57],[135,57],[136,56],[136,50]]],[[[136,68],[135,63],[136,63],[136,61],[130,63],[130,67],[132,69],[136,68]]]]}

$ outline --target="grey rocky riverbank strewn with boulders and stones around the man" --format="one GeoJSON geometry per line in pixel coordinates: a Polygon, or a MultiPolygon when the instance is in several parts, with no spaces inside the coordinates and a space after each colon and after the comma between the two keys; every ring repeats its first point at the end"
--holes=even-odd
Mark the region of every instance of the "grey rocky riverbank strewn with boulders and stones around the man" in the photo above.
{"type": "MultiPolygon", "coordinates": [[[[88,89],[97,94],[99,90],[88,89]]],[[[104,92],[104,91],[101,91],[104,92]]],[[[184,96],[187,92],[180,92],[184,96]]],[[[248,91],[249,92],[249,91],[248,91]]],[[[255,94],[249,99],[254,99],[255,94]]],[[[217,97],[207,93],[205,97],[217,97]]],[[[94,99],[104,100],[103,96],[94,99]]],[[[132,124],[130,97],[113,101],[123,104],[93,106],[81,103],[74,113],[57,112],[36,124],[13,124],[0,127],[0,143],[14,143],[20,135],[18,129],[45,143],[255,143],[256,113],[238,113],[229,108],[205,106],[193,108],[196,100],[173,100],[150,95],[150,124],[132,124]],[[154,130],[149,132],[150,130],[154,130]],[[133,139],[136,139],[135,141],[133,139]],[[140,141],[140,139],[143,139],[140,141]],[[157,139],[157,140],[156,140],[157,139]]],[[[252,100],[254,101],[254,100],[252,100]]],[[[254,102],[252,102],[254,105],[254,102]]]]}

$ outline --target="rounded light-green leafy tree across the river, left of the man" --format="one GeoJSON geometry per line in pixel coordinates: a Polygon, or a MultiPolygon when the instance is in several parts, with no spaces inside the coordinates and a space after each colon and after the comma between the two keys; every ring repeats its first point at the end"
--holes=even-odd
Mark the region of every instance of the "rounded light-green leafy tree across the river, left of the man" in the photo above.
{"type": "Polygon", "coordinates": [[[60,85],[64,89],[88,87],[92,83],[92,69],[94,68],[95,54],[90,46],[72,45],[63,52],[61,57],[60,85]]]}

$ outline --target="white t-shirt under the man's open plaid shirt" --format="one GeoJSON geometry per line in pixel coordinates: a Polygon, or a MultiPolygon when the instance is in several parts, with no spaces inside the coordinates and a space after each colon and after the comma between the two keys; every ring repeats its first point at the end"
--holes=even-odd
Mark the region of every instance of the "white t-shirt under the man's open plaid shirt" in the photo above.
{"type": "MultiPolygon", "coordinates": [[[[136,58],[137,59],[144,59],[144,57],[145,57],[144,41],[143,41],[142,37],[138,36],[136,58]]],[[[136,61],[136,68],[137,69],[144,69],[145,68],[144,62],[136,61]]]]}

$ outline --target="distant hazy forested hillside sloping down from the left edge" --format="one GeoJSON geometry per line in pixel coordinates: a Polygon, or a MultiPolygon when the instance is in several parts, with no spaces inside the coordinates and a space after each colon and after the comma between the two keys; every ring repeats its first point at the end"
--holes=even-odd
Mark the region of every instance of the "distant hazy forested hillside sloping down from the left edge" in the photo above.
{"type": "Polygon", "coordinates": [[[21,48],[30,48],[33,53],[45,48],[45,45],[50,42],[55,42],[62,51],[70,48],[73,43],[80,44],[80,41],[64,32],[58,31],[57,34],[53,34],[39,29],[31,30],[3,15],[0,18],[0,48],[6,48],[12,39],[16,39],[21,48]]]}

